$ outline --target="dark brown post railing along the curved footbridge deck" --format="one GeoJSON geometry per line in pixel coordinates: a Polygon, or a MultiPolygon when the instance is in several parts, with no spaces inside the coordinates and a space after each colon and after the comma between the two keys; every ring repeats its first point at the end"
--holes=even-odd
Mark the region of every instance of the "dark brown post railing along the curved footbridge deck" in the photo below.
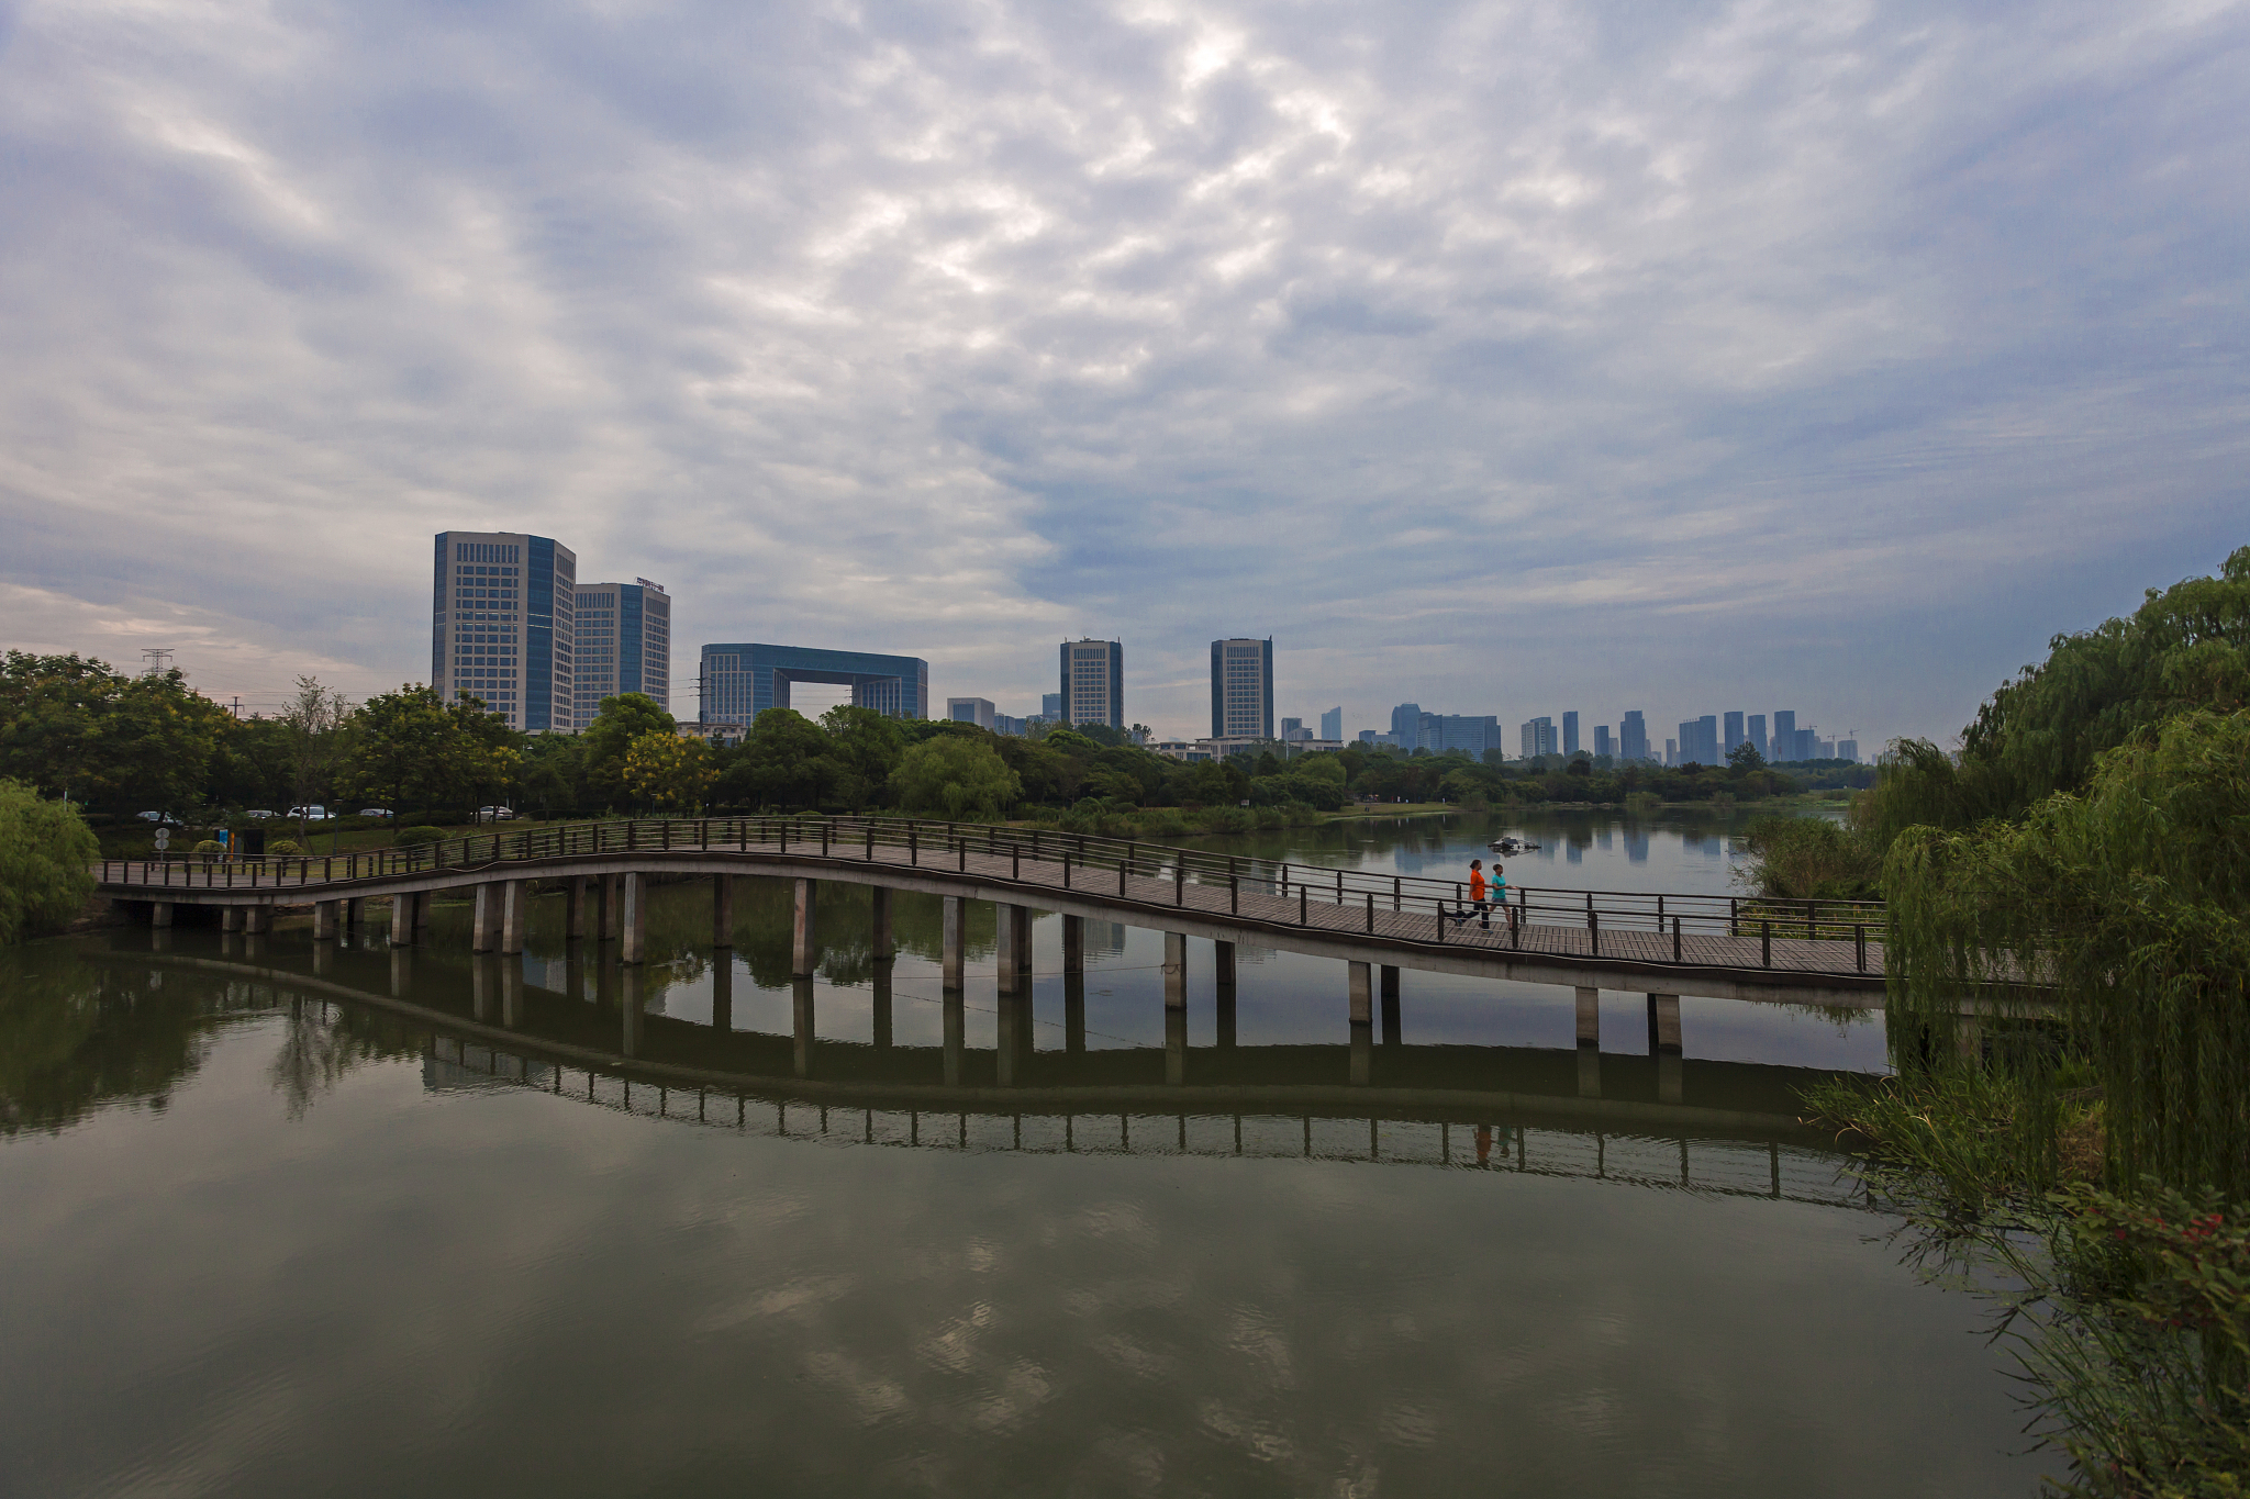
{"type": "MultiPolygon", "coordinates": [[[[1881,901],[1780,901],[1726,894],[1656,894],[1638,890],[1564,890],[1510,885],[1490,912],[1469,901],[1467,881],[1424,874],[1382,874],[1339,865],[1305,865],[1246,854],[1220,854],[1134,838],[1102,838],[1044,827],[943,823],[934,818],[616,818],[495,829],[398,850],[358,854],[290,854],[277,858],[207,861],[196,854],[160,861],[104,861],[106,885],[286,890],[335,888],[434,872],[486,872],[504,879],[511,865],[616,854],[742,852],[902,867],[952,867],[983,879],[1046,890],[1084,890],[1134,906],[1197,906],[1226,890],[1226,912],[1282,926],[1420,935],[1444,942],[1469,921],[1483,937],[1498,928],[1516,946],[1526,928],[1575,928],[1602,955],[1604,933],[1654,935],[1634,942],[1636,955],[1690,960],[1690,937],[1760,939],[1773,966],[1773,942],[1850,942],[1854,966],[1868,971],[1870,933],[1881,937],[1881,901]],[[1004,865],[1001,865],[1004,861],[1004,865]],[[1170,881],[1170,899],[1145,881],[1170,881]],[[1195,892],[1190,897],[1190,890],[1195,892]],[[1422,926],[1406,926],[1402,917],[1422,926]]],[[[1793,964],[1791,964],[1793,966],[1793,964]]]]}

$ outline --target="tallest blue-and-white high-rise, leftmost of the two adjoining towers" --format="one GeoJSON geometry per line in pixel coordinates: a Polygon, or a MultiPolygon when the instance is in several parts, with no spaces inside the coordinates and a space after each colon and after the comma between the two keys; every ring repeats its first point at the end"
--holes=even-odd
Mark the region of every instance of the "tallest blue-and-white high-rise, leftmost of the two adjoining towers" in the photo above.
{"type": "Polygon", "coordinates": [[[434,551],[436,694],[472,697],[508,728],[574,730],[578,553],[520,530],[441,530],[434,551]]]}

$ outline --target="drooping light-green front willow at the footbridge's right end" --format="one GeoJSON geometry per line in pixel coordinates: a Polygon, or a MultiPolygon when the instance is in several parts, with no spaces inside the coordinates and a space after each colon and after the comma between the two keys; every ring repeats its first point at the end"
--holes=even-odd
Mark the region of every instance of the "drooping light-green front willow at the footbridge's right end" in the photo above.
{"type": "Polygon", "coordinates": [[[1897,1065],[2048,987],[2108,1099],[2113,1184],[2250,1198],[2250,712],[2180,715],[2023,823],[1908,829],[1883,888],[1897,1065]]]}

